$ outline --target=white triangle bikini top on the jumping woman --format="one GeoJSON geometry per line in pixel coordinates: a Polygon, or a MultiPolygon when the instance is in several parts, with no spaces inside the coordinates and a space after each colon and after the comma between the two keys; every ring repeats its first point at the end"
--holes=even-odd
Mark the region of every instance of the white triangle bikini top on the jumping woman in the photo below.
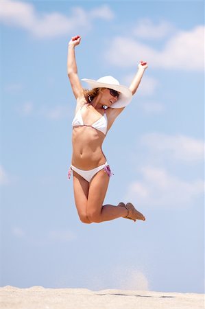
{"type": "Polygon", "coordinates": [[[94,124],[88,125],[88,124],[84,124],[83,122],[81,109],[82,108],[80,108],[75,114],[75,117],[72,122],[72,126],[92,126],[93,128],[96,128],[97,130],[104,133],[104,135],[106,135],[107,126],[108,126],[108,118],[106,115],[106,110],[104,110],[104,115],[101,116],[96,122],[94,122],[94,124]]]}

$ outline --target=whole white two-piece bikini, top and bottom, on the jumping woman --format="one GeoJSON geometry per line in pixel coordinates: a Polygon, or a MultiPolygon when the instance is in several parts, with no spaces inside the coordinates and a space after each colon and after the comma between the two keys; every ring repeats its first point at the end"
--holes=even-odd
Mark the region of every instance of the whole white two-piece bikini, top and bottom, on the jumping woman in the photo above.
{"type": "MultiPolygon", "coordinates": [[[[84,106],[82,106],[82,108],[83,107],[84,106]]],[[[77,111],[73,119],[72,126],[73,127],[74,126],[91,126],[92,128],[99,130],[100,132],[104,133],[104,135],[106,135],[107,127],[108,127],[108,118],[106,115],[106,110],[104,110],[104,115],[101,116],[96,122],[94,122],[94,124],[88,125],[88,124],[84,124],[83,122],[82,113],[81,113],[82,108],[80,108],[77,111]]],[[[112,176],[112,172],[110,170],[110,166],[108,165],[107,161],[103,165],[97,166],[97,168],[93,168],[92,170],[80,170],[80,168],[75,168],[74,165],[71,165],[69,168],[68,179],[71,178],[71,170],[74,170],[75,172],[77,172],[77,174],[80,174],[80,176],[82,176],[89,183],[91,179],[93,178],[93,176],[95,176],[95,174],[99,172],[99,170],[102,170],[102,169],[104,169],[104,172],[106,172],[108,176],[112,176]]]]}

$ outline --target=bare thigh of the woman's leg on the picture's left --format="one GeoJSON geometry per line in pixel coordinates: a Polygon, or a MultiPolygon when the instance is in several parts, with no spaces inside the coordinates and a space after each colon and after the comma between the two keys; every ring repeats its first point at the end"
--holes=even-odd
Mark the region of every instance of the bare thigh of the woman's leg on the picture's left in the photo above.
{"type": "Polygon", "coordinates": [[[91,223],[87,216],[88,190],[89,183],[82,176],[73,171],[73,189],[75,205],[78,216],[84,223],[91,223]]]}

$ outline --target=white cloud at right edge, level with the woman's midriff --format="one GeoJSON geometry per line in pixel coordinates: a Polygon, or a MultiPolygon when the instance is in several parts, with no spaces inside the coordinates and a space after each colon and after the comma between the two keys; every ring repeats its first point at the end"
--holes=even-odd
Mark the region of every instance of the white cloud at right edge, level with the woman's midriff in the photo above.
{"type": "Polygon", "coordinates": [[[166,157],[189,162],[204,159],[204,141],[185,135],[149,133],[141,137],[141,145],[149,148],[154,156],[162,153],[166,157]]]}

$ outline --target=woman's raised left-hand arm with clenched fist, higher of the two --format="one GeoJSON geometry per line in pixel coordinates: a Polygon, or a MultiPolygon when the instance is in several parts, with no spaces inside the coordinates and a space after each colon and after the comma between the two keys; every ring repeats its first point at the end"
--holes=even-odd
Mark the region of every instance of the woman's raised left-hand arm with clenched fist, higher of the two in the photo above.
{"type": "Polygon", "coordinates": [[[67,60],[67,73],[71,82],[71,88],[76,99],[84,96],[80,79],[77,76],[77,65],[75,61],[75,46],[80,44],[81,37],[73,36],[69,42],[68,47],[68,60],[67,60]]]}

